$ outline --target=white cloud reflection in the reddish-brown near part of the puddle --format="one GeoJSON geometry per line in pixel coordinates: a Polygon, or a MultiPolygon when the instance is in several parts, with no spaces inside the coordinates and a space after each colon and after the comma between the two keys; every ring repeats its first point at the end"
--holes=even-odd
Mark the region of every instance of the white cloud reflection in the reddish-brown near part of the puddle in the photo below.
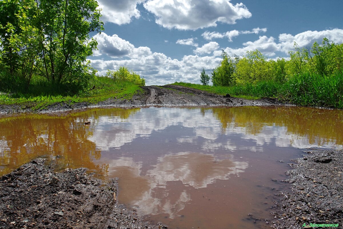
{"type": "Polygon", "coordinates": [[[142,162],[122,157],[106,159],[109,163],[110,177],[123,177],[120,180],[118,198],[129,206],[139,206],[141,215],[168,214],[173,219],[191,200],[186,187],[206,188],[216,179],[228,180],[229,175],[244,172],[247,162],[234,161],[232,155],[217,159],[213,154],[179,152],[167,154],[157,159],[153,169],[142,174],[142,162]],[[183,188],[170,188],[170,182],[181,181],[183,188]]]}

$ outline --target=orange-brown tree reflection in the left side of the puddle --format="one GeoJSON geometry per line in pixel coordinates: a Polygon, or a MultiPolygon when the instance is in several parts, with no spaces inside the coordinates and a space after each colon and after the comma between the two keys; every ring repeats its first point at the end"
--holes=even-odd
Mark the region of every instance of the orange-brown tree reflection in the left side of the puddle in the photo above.
{"type": "Polygon", "coordinates": [[[99,115],[128,118],[139,110],[98,109],[73,112],[66,115],[23,114],[0,119],[0,175],[11,172],[20,165],[43,155],[55,160],[58,168],[86,167],[105,175],[107,164],[95,165],[101,157],[92,135],[99,115]],[[92,120],[89,126],[83,125],[92,120]]]}

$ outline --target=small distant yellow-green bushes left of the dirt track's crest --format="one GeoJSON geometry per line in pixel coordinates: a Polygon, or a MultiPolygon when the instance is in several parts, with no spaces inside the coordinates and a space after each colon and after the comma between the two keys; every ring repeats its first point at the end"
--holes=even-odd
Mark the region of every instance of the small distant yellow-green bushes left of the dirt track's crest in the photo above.
{"type": "Polygon", "coordinates": [[[129,81],[140,86],[145,86],[145,79],[141,78],[134,71],[129,71],[127,67],[119,67],[117,71],[107,70],[106,77],[112,78],[114,81],[129,81]]]}

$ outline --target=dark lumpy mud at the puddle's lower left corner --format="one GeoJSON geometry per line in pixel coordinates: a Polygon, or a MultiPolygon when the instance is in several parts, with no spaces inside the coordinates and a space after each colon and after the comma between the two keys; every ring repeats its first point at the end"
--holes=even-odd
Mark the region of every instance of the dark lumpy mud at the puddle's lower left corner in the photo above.
{"type": "Polygon", "coordinates": [[[101,184],[85,171],[54,173],[36,159],[2,176],[0,228],[167,228],[118,205],[115,180],[101,184]]]}

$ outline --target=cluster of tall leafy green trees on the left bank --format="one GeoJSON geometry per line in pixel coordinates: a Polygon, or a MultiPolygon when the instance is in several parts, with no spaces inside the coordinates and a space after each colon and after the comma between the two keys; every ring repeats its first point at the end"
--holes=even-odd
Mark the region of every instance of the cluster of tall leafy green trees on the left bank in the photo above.
{"type": "Polygon", "coordinates": [[[104,29],[96,0],[4,0],[0,11],[1,68],[26,88],[35,75],[82,88],[94,78],[89,33],[104,29]]]}

